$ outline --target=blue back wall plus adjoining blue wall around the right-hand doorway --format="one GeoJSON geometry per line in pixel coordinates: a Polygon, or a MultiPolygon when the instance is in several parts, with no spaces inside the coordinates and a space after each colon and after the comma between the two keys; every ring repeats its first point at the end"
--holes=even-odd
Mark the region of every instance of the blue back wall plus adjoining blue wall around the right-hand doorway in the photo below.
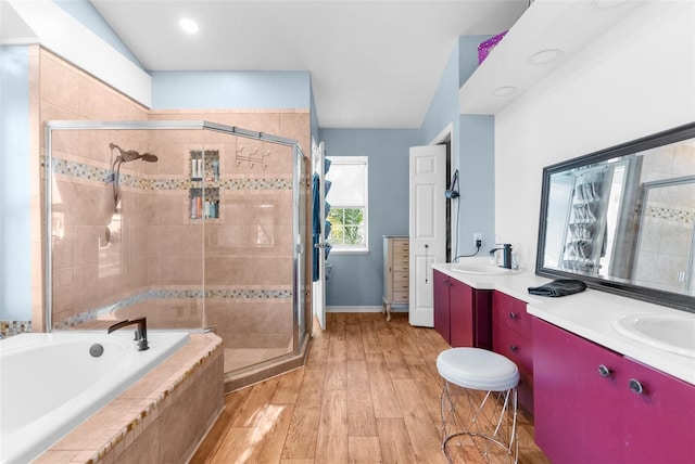
{"type": "MultiPolygon", "coordinates": [[[[452,51],[420,129],[323,129],[329,156],[369,157],[369,254],[331,255],[327,306],[380,306],[381,235],[408,233],[409,147],[430,143],[452,126],[452,165],[459,169],[459,211],[454,233],[459,255],[472,254],[472,234],[483,234],[481,256],[494,244],[494,117],[460,115],[458,90],[478,67],[478,44],[490,36],[460,37],[452,51]]],[[[455,219],[456,217],[454,217],[455,219]]]]}

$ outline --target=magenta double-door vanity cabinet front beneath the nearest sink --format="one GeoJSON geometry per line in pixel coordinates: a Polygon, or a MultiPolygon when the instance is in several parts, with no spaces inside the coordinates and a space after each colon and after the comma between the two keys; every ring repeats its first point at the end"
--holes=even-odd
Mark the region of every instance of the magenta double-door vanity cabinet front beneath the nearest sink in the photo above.
{"type": "Polygon", "coordinates": [[[535,442],[554,463],[695,462],[695,386],[533,320],[535,442]]]}

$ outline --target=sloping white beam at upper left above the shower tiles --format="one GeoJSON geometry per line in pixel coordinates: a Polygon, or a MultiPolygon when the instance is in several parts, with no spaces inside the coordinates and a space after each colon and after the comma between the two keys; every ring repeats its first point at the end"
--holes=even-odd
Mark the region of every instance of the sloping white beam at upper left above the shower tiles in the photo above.
{"type": "MultiPolygon", "coordinates": [[[[147,107],[152,79],[99,36],[50,0],[8,0],[38,37],[38,42],[80,69],[103,80],[147,107]]],[[[33,43],[36,43],[34,39],[33,43]]]]}

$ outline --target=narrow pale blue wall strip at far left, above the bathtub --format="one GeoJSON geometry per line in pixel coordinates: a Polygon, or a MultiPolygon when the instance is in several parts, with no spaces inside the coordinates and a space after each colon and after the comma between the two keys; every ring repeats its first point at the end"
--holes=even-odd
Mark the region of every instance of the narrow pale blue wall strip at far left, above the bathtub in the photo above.
{"type": "Polygon", "coordinates": [[[0,47],[0,319],[31,319],[29,53],[0,47]]]}

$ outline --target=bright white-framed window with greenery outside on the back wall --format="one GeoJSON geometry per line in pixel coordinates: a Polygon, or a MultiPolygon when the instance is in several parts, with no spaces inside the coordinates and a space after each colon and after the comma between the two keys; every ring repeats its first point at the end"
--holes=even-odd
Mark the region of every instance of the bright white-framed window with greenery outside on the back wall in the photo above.
{"type": "Polygon", "coordinates": [[[366,253],[367,243],[367,157],[329,156],[326,180],[330,189],[328,242],[331,253],[366,253]]]}

